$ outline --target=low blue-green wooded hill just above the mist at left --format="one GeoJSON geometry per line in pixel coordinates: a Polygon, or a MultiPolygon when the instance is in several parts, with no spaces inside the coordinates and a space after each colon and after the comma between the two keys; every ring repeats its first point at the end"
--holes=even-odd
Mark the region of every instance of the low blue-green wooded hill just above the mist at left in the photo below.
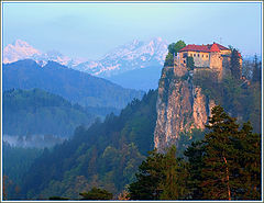
{"type": "Polygon", "coordinates": [[[80,105],[41,89],[3,92],[3,133],[8,135],[68,137],[78,125],[89,126],[94,120],[80,105]]]}

